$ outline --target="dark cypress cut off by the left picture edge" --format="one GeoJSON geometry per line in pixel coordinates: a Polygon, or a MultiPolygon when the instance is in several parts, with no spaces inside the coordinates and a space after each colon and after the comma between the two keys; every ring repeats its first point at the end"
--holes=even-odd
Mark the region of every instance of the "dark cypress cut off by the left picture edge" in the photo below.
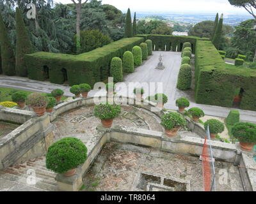
{"type": "Polygon", "coordinates": [[[0,13],[0,44],[1,44],[1,61],[4,75],[15,75],[15,57],[12,46],[8,39],[6,27],[0,13]]]}

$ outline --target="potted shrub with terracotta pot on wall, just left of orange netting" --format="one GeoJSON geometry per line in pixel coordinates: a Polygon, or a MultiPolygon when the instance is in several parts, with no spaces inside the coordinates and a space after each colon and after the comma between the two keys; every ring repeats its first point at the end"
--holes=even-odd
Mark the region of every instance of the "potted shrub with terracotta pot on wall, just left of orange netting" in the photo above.
{"type": "Polygon", "coordinates": [[[174,137],[180,128],[186,126],[186,120],[180,113],[170,112],[161,117],[161,126],[164,127],[166,135],[174,137]]]}

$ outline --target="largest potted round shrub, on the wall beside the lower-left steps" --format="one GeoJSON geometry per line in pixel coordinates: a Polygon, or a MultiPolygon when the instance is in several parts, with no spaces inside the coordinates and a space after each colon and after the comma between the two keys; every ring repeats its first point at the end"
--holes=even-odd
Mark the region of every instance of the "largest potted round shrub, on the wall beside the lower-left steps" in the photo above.
{"type": "Polygon", "coordinates": [[[77,166],[87,159],[87,148],[77,138],[63,138],[52,144],[46,154],[46,168],[65,177],[72,177],[77,166]]]}

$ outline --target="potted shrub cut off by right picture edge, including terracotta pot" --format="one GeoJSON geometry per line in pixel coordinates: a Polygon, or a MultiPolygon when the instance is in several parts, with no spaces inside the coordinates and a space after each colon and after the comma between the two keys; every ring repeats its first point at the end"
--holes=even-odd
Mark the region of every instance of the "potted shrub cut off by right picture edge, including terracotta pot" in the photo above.
{"type": "Polygon", "coordinates": [[[231,132],[239,140],[241,149],[248,152],[252,151],[256,143],[256,124],[237,122],[231,132]]]}

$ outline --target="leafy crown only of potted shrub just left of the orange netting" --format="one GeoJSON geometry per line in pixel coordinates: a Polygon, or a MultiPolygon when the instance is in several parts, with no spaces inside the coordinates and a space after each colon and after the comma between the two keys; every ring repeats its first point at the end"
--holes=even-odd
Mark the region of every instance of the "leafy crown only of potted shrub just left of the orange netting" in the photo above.
{"type": "Polygon", "coordinates": [[[180,113],[170,112],[161,117],[161,126],[165,129],[182,128],[186,126],[186,120],[180,113]]]}

